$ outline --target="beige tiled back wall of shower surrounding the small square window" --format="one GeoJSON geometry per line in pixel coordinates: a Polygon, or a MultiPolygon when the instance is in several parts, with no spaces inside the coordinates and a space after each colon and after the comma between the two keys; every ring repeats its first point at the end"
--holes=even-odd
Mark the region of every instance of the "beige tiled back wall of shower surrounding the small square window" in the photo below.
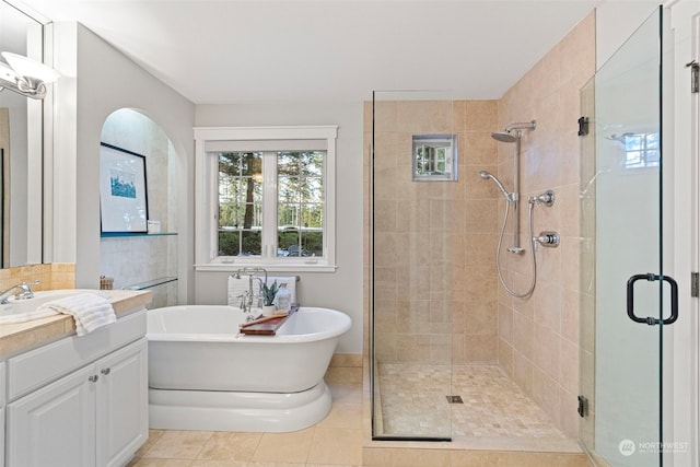
{"type": "MultiPolygon", "coordinates": [[[[499,192],[494,101],[377,102],[375,112],[375,355],[382,362],[498,361],[499,192]],[[455,133],[458,182],[411,180],[412,135],[455,133]]],[[[369,235],[372,104],[365,106],[369,235]]],[[[370,238],[365,238],[370,277],[370,238]]],[[[369,287],[365,283],[368,310],[369,287]]],[[[366,314],[369,319],[369,312],[366,314]]],[[[366,329],[366,328],[365,328],[366,329]]],[[[366,334],[365,334],[366,335],[366,334]]]]}

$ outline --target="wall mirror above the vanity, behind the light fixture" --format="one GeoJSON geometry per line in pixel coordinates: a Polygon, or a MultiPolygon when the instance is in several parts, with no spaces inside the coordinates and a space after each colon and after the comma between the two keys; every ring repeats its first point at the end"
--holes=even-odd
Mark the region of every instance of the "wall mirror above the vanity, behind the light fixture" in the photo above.
{"type": "MultiPolygon", "coordinates": [[[[43,61],[44,25],[0,1],[0,51],[43,61]]],[[[48,98],[47,98],[48,101],[48,98]]],[[[0,265],[43,262],[44,101],[0,91],[0,265]]]]}

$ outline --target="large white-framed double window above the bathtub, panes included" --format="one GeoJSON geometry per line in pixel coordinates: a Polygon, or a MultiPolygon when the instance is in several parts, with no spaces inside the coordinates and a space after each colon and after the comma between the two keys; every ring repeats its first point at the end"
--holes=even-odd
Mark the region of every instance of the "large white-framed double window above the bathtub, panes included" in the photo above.
{"type": "Polygon", "coordinates": [[[335,270],[336,135],[195,129],[197,269],[335,270]]]}

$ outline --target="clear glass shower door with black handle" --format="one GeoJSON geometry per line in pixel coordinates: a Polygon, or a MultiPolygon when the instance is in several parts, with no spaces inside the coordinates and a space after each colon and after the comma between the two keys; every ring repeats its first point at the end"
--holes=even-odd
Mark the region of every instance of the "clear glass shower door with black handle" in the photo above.
{"type": "Polygon", "coordinates": [[[665,23],[660,8],[582,90],[593,117],[582,138],[581,437],[614,467],[663,465],[664,326],[677,310],[663,273],[665,23]]]}

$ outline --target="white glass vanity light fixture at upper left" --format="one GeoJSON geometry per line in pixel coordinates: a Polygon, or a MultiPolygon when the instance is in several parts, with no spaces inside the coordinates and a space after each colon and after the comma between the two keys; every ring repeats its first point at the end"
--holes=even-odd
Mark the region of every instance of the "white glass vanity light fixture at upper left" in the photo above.
{"type": "Polygon", "coordinates": [[[58,71],[31,58],[9,51],[1,55],[7,63],[0,61],[0,91],[8,89],[40,100],[46,96],[46,83],[60,77],[58,71]]]}

